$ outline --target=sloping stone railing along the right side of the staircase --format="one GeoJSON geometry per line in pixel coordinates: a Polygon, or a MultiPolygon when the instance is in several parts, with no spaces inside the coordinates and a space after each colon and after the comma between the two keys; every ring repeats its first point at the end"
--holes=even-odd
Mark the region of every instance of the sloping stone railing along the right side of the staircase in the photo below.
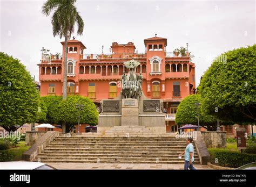
{"type": "Polygon", "coordinates": [[[196,144],[197,153],[199,156],[200,163],[202,165],[207,165],[208,162],[211,160],[211,156],[208,153],[206,144],[204,142],[204,139],[202,137],[202,134],[200,131],[197,131],[196,133],[196,139],[194,140],[194,143],[196,144]]]}

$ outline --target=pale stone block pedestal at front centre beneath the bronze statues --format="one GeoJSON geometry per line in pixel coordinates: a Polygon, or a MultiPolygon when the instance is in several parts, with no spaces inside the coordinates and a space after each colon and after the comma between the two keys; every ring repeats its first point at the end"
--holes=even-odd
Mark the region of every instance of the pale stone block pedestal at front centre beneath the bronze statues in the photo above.
{"type": "Polygon", "coordinates": [[[122,99],[122,126],[139,126],[139,105],[137,99],[122,99]]]}

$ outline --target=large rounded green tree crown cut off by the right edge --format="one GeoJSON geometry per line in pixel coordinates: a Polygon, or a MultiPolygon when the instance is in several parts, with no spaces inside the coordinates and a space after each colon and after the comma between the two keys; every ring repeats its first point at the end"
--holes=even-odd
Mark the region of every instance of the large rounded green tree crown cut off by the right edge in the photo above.
{"type": "Polygon", "coordinates": [[[205,111],[238,124],[256,120],[256,45],[228,51],[215,59],[200,82],[205,111]]]}

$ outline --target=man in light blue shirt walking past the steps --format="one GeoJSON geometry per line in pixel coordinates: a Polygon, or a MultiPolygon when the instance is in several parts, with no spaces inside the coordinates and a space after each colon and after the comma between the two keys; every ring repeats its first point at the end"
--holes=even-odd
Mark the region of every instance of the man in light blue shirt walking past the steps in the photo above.
{"type": "Polygon", "coordinates": [[[186,139],[187,147],[184,150],[184,152],[179,154],[179,156],[181,157],[181,155],[185,153],[185,163],[184,163],[184,169],[185,170],[187,170],[188,168],[190,168],[190,170],[195,170],[196,169],[196,168],[193,167],[193,163],[194,163],[194,146],[192,145],[191,142],[192,142],[192,138],[187,138],[186,139]]]}

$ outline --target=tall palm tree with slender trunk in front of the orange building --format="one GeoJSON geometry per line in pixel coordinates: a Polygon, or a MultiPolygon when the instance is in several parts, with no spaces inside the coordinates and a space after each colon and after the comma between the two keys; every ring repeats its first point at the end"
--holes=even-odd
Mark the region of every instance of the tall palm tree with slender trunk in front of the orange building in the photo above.
{"type": "Polygon", "coordinates": [[[53,37],[59,35],[59,38],[65,38],[65,52],[64,52],[64,79],[63,79],[63,99],[67,95],[67,53],[68,40],[74,32],[77,24],[77,34],[82,35],[84,31],[84,21],[79,15],[75,6],[76,0],[48,0],[42,7],[42,13],[49,16],[54,10],[51,17],[53,37]]]}

